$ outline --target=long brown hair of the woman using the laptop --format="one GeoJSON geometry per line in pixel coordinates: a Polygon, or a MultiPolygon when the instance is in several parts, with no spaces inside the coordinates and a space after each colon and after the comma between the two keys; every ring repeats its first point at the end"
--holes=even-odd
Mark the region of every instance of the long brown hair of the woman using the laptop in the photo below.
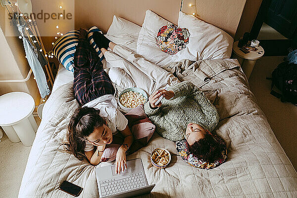
{"type": "Polygon", "coordinates": [[[100,111],[93,107],[78,107],[71,116],[68,124],[67,140],[64,149],[73,154],[79,160],[86,158],[84,148],[86,137],[105,124],[105,120],[99,115],[100,111]]]}

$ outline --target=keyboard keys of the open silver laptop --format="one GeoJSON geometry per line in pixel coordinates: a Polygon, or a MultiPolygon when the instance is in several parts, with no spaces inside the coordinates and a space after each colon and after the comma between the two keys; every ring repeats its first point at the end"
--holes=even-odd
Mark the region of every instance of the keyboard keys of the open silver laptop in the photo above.
{"type": "Polygon", "coordinates": [[[140,187],[144,187],[145,185],[146,183],[142,172],[131,174],[127,178],[121,178],[118,180],[113,178],[100,181],[102,196],[115,195],[131,191],[140,187]]]}

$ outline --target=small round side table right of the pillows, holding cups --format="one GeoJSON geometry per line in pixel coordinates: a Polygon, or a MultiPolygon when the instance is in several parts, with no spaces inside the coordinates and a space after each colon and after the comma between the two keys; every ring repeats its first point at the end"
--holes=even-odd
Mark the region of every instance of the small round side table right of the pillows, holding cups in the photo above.
{"type": "Polygon", "coordinates": [[[256,47],[257,51],[249,51],[249,53],[244,53],[237,47],[238,41],[233,43],[233,58],[238,59],[243,71],[247,76],[247,80],[255,66],[256,60],[264,55],[264,49],[261,46],[256,47]],[[258,53],[259,52],[259,53],[258,53]]]}

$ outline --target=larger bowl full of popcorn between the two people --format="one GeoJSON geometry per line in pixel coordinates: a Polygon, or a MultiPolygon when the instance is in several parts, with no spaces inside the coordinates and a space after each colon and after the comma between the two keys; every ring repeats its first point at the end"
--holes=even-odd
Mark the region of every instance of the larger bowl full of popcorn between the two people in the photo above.
{"type": "Polygon", "coordinates": [[[118,100],[121,109],[128,112],[138,105],[145,104],[148,101],[148,95],[144,90],[133,87],[122,91],[118,100]]]}

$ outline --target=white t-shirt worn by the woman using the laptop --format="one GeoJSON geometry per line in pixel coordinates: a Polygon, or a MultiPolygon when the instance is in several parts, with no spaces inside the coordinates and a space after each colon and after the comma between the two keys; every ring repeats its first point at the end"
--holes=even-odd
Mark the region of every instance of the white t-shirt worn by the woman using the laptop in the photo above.
{"type": "MultiPolygon", "coordinates": [[[[127,118],[117,108],[116,99],[112,95],[104,95],[98,99],[86,103],[84,106],[94,107],[100,110],[100,116],[106,119],[107,126],[111,129],[112,135],[117,131],[123,131],[128,124],[127,118]]],[[[94,145],[86,142],[85,151],[91,151],[94,145]]]]}

